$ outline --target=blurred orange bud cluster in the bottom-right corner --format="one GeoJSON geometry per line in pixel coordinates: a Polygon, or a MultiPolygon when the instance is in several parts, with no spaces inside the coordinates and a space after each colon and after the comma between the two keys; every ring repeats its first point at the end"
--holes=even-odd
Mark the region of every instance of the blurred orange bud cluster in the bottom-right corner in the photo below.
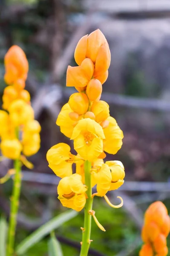
{"type": "Polygon", "coordinates": [[[170,217],[161,201],[151,204],[145,212],[139,256],[167,256],[167,236],[170,233],[170,217]],[[155,253],[155,254],[154,254],[155,253]]]}

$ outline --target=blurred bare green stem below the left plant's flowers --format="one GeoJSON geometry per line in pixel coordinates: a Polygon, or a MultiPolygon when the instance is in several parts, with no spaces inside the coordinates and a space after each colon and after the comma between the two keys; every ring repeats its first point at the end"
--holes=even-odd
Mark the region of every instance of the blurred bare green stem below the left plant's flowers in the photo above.
{"type": "Polygon", "coordinates": [[[9,232],[6,256],[12,256],[14,253],[15,230],[17,225],[17,213],[19,208],[20,187],[21,187],[21,163],[19,159],[14,160],[14,183],[11,196],[11,210],[9,218],[9,232]]]}

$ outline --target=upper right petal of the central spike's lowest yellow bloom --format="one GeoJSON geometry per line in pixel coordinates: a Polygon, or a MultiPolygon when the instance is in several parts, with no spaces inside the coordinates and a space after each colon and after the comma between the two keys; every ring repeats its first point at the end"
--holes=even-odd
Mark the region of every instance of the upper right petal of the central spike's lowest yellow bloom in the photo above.
{"type": "Polygon", "coordinates": [[[86,188],[82,183],[81,175],[75,173],[69,177],[69,186],[76,194],[82,194],[86,192],[86,188]]]}

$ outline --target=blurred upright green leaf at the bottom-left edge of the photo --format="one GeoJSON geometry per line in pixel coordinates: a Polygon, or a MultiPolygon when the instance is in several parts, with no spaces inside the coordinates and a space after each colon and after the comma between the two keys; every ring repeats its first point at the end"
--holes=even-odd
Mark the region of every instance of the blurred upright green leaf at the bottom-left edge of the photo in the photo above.
{"type": "Polygon", "coordinates": [[[0,218],[0,256],[6,256],[6,236],[8,225],[4,217],[0,218]]]}

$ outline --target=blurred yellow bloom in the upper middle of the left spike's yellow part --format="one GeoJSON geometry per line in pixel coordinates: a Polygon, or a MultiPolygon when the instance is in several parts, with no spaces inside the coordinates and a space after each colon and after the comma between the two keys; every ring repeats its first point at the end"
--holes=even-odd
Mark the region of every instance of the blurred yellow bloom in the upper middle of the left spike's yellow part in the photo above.
{"type": "Polygon", "coordinates": [[[17,99],[9,106],[9,115],[15,126],[24,125],[34,119],[34,111],[31,105],[26,104],[22,99],[17,99]]]}

